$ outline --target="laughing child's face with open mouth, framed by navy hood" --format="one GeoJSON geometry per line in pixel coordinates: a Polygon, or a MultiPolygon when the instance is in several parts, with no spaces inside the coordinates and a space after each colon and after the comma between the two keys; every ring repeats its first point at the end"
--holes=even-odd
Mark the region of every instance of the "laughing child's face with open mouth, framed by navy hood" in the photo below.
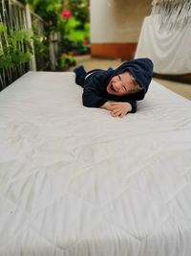
{"type": "Polygon", "coordinates": [[[137,89],[138,84],[133,80],[129,72],[125,72],[113,77],[106,88],[109,94],[114,94],[117,96],[135,92],[137,89]]]}

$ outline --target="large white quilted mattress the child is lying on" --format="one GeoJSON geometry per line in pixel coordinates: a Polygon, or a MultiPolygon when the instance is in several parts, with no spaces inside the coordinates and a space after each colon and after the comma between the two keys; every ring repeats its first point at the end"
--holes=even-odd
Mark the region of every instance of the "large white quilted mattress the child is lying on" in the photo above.
{"type": "Polygon", "coordinates": [[[1,256],[190,256],[191,103],[152,81],[123,119],[73,73],[0,93],[1,256]]]}

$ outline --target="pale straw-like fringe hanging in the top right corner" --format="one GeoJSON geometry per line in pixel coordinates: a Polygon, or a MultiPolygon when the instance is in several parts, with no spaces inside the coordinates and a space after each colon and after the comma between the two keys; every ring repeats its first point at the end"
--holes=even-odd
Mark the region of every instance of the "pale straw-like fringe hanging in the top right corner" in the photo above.
{"type": "Polygon", "coordinates": [[[191,28],[191,0],[154,0],[151,14],[159,14],[160,29],[191,28]]]}

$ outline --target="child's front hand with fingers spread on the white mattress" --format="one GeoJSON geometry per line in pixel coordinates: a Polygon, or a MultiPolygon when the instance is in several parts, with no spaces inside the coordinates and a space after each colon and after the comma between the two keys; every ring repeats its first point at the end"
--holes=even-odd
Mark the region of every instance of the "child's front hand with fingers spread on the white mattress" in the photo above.
{"type": "Polygon", "coordinates": [[[116,117],[124,117],[128,112],[131,112],[132,105],[129,103],[110,103],[111,114],[116,117]]]}

